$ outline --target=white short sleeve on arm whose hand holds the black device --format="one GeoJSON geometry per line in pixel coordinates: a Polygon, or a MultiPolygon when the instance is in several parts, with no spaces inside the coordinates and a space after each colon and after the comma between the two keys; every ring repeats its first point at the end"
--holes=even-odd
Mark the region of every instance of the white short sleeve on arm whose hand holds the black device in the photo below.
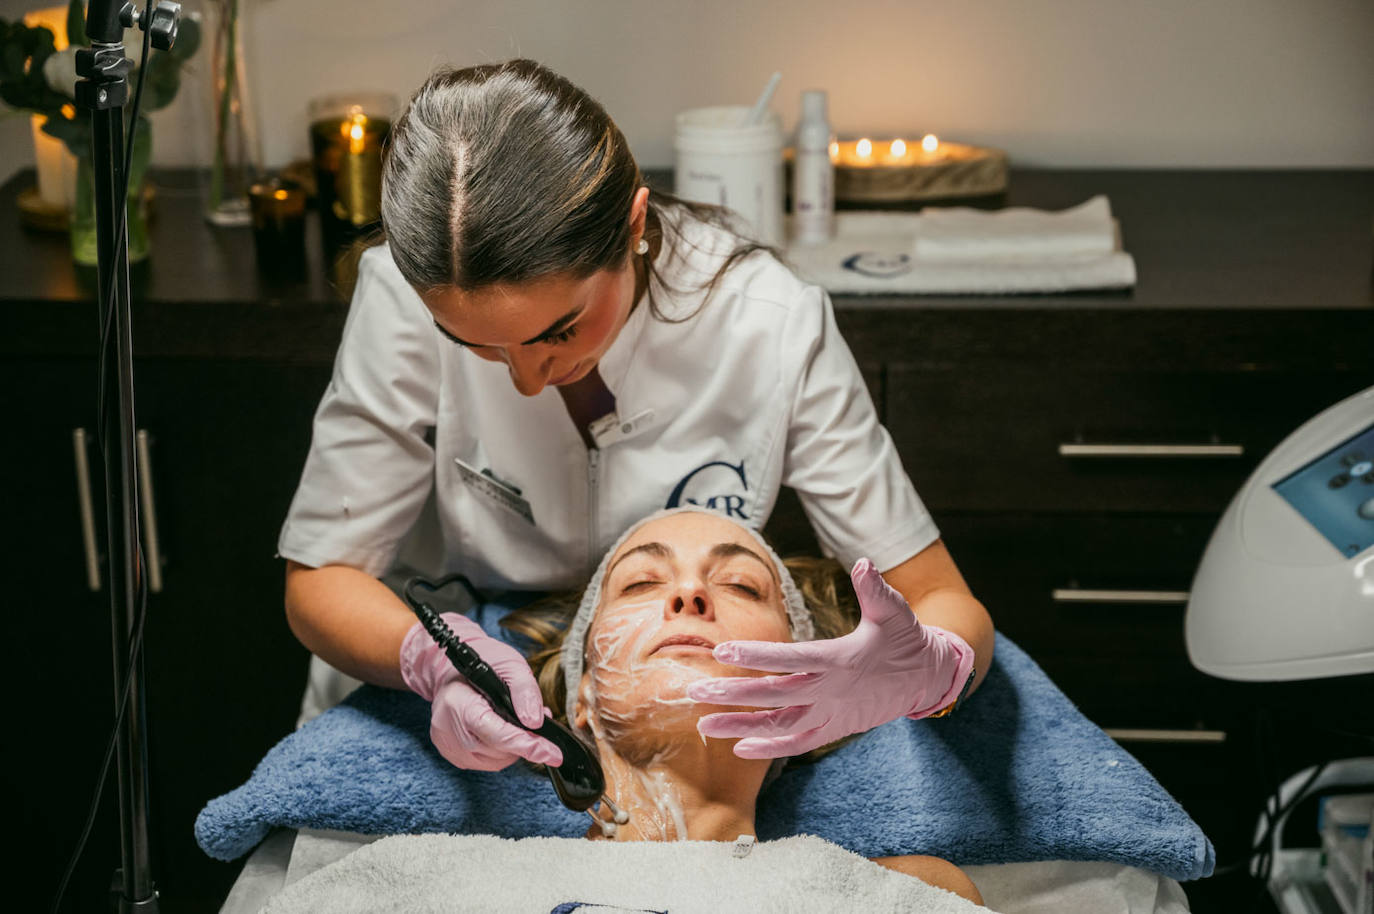
{"type": "Polygon", "coordinates": [[[425,302],[387,247],[365,252],[279,555],[386,572],[433,487],[438,383],[425,302]]]}

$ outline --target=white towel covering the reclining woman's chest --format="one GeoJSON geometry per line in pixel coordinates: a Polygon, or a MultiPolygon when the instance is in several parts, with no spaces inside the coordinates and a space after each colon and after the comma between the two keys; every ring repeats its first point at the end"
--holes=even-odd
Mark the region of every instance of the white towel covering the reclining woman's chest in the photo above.
{"type": "Polygon", "coordinates": [[[295,911],[929,911],[981,909],[813,836],[761,841],[587,841],[418,834],[381,838],[284,888],[295,911]]]}

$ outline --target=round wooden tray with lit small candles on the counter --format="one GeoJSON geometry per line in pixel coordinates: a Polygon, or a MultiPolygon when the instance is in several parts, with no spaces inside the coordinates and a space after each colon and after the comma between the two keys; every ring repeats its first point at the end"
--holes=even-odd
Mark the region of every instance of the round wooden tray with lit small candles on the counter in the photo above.
{"type": "MultiPolygon", "coordinates": [[[[783,151],[791,168],[794,151],[783,151]]],[[[933,133],[919,140],[859,137],[830,144],[835,201],[903,202],[984,197],[1007,188],[1007,154],[949,143],[933,133]]],[[[790,180],[789,180],[790,187],[790,180]]]]}

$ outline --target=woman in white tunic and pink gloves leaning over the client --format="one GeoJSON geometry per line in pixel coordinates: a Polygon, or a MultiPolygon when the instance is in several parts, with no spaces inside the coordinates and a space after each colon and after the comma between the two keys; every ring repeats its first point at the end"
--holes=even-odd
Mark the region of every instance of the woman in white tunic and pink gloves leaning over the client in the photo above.
{"type": "MultiPolygon", "coordinates": [[[[885,616],[892,599],[864,602],[864,586],[851,635],[717,646],[736,667],[811,675],[769,678],[767,701],[753,687],[732,702],[735,680],[710,680],[716,704],[760,709],[717,713],[703,735],[747,737],[738,755],[797,755],[944,713],[977,686],[992,623],[878,423],[822,287],[719,224],[720,210],[651,192],[600,104],[532,60],[431,76],[382,170],[387,243],[360,260],[279,543],[287,618],[316,656],[304,717],[354,684],[341,671],[430,700],[453,764],[556,764],[558,749],[499,719],[379,579],[403,568],[480,588],[580,587],[651,511],[695,503],[761,528],[780,485],[827,553],[846,568],[870,559],[914,614],[885,616]]],[[[712,612],[712,575],[664,612],[712,612]]],[[[525,661],[449,618],[537,726],[525,661]]]]}

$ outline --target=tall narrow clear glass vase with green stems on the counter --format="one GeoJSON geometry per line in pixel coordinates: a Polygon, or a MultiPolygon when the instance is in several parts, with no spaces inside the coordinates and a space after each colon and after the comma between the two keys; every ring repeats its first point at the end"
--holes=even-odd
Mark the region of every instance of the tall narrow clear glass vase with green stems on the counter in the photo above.
{"type": "Polygon", "coordinates": [[[210,170],[205,217],[216,225],[247,225],[249,188],[261,176],[257,131],[243,55],[245,0],[209,0],[210,170]]]}

